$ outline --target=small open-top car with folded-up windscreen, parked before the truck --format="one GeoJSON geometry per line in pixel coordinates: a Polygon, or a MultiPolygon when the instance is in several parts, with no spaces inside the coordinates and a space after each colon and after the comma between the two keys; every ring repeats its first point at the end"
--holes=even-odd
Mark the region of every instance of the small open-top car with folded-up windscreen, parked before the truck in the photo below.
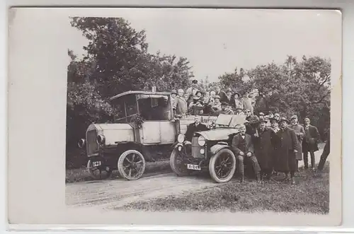
{"type": "Polygon", "coordinates": [[[215,182],[231,180],[236,171],[232,139],[245,122],[244,115],[219,115],[215,129],[195,132],[191,142],[185,140],[183,133],[179,134],[170,158],[173,172],[185,176],[195,170],[208,170],[215,182]]]}

